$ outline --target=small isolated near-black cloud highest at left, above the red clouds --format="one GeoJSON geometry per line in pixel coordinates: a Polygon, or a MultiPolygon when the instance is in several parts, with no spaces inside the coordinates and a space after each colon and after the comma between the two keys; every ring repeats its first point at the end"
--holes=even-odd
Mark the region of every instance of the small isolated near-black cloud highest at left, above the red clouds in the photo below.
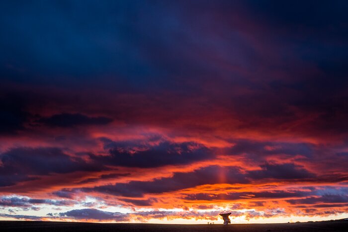
{"type": "Polygon", "coordinates": [[[105,125],[112,122],[112,119],[106,117],[88,117],[83,114],[55,114],[47,118],[37,120],[39,123],[52,127],[74,127],[79,125],[105,125]]]}

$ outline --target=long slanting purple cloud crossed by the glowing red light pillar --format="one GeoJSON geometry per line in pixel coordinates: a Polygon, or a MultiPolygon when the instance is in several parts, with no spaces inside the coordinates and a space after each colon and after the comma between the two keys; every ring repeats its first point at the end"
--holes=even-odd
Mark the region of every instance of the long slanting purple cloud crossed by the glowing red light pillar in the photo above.
{"type": "Polygon", "coordinates": [[[147,193],[164,193],[204,184],[249,183],[237,167],[208,166],[192,172],[175,172],[172,177],[153,181],[130,181],[114,185],[83,188],[83,191],[97,191],[125,197],[142,197],[147,193]],[[225,179],[222,179],[224,176],[225,179]]]}

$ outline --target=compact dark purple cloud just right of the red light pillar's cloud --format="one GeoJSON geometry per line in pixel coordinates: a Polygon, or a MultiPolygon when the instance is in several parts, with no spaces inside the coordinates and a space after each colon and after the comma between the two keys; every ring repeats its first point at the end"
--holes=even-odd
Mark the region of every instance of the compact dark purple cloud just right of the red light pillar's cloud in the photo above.
{"type": "Polygon", "coordinates": [[[261,165],[262,170],[249,171],[248,177],[252,179],[309,179],[315,177],[315,174],[309,172],[301,166],[296,166],[293,163],[261,165]]]}

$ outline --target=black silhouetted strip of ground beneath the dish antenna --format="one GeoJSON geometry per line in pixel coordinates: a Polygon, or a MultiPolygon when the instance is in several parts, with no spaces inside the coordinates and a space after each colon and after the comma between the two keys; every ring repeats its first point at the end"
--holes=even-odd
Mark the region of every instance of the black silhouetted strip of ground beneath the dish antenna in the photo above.
{"type": "Polygon", "coordinates": [[[348,232],[348,221],[326,221],[312,223],[282,224],[232,224],[224,225],[164,225],[164,224],[119,224],[119,223],[65,223],[0,221],[1,232],[348,232]]]}

